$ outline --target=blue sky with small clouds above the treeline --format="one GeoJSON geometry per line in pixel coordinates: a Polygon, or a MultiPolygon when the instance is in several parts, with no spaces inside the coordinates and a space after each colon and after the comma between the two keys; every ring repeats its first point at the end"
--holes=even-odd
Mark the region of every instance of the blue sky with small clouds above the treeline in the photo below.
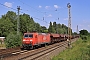
{"type": "Polygon", "coordinates": [[[90,0],[1,0],[0,17],[8,11],[17,13],[17,6],[20,6],[20,14],[29,14],[41,26],[48,28],[49,22],[68,26],[67,3],[71,5],[71,28],[73,32],[77,31],[77,25],[79,31],[86,29],[90,32],[90,0]]]}

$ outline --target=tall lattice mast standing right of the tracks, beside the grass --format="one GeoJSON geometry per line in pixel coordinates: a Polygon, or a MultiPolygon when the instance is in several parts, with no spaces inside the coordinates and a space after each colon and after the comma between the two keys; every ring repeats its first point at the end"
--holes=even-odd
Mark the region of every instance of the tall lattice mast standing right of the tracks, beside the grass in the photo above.
{"type": "Polygon", "coordinates": [[[70,44],[71,44],[71,13],[70,13],[71,5],[70,5],[70,3],[67,4],[67,7],[68,7],[68,13],[69,13],[69,18],[68,18],[68,39],[69,39],[70,44]]]}

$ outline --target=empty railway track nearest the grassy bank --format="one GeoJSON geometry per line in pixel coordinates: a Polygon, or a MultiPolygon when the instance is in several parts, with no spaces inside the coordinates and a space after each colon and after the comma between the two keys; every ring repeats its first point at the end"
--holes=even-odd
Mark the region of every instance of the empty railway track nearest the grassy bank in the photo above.
{"type": "Polygon", "coordinates": [[[47,48],[45,50],[42,50],[42,51],[39,51],[37,53],[34,53],[32,55],[29,55],[29,56],[26,56],[26,57],[23,57],[23,58],[20,58],[19,60],[36,60],[38,59],[39,57],[45,55],[45,54],[48,54],[50,53],[51,51],[54,51],[56,49],[58,49],[59,47],[61,46],[64,46],[66,45],[66,41],[65,42],[62,42],[61,44],[58,44],[56,46],[53,46],[53,47],[50,47],[50,48],[47,48]]]}

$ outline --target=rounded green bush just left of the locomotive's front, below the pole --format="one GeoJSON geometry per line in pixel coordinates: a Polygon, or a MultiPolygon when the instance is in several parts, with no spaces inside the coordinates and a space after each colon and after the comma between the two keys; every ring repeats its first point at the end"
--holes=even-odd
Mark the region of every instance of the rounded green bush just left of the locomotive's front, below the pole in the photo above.
{"type": "Polygon", "coordinates": [[[5,39],[6,48],[13,48],[21,45],[21,37],[10,33],[5,39]]]}

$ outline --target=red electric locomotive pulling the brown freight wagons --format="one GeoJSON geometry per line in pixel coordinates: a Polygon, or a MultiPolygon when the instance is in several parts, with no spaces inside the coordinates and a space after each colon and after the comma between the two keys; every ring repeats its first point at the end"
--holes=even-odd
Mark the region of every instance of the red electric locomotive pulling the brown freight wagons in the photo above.
{"type": "Polygon", "coordinates": [[[49,44],[50,42],[50,34],[48,33],[24,33],[22,46],[26,49],[33,49],[34,46],[39,46],[41,44],[49,44]]]}

